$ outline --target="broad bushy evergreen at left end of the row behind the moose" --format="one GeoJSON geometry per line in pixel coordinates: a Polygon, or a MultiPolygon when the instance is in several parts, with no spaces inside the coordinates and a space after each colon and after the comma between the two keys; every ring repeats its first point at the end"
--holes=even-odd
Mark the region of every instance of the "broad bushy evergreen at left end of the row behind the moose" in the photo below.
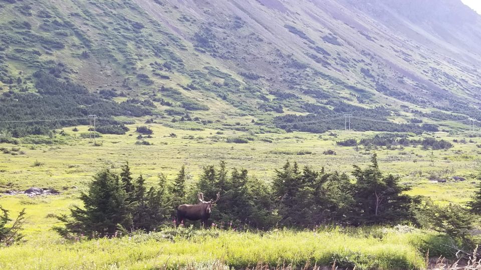
{"type": "Polygon", "coordinates": [[[74,206],[70,209],[71,216],[59,216],[65,227],[55,229],[64,236],[70,233],[104,235],[113,234],[117,229],[130,229],[132,215],[126,197],[119,175],[104,169],[89,183],[88,193],[82,192],[80,199],[84,207],[74,206]]]}

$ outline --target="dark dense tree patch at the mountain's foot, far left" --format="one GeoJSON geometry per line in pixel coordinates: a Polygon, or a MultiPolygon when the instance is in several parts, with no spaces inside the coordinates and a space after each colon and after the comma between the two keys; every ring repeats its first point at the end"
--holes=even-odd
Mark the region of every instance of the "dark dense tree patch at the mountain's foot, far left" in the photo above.
{"type": "MultiPolygon", "coordinates": [[[[126,127],[112,116],[144,116],[154,113],[150,107],[142,104],[118,103],[105,99],[100,94],[89,92],[81,84],[58,79],[49,70],[36,71],[33,77],[38,93],[8,91],[0,95],[0,121],[86,118],[89,114],[97,114],[102,117],[102,125],[97,128],[98,131],[125,134],[126,127]]],[[[89,124],[89,121],[79,119],[1,123],[0,133],[9,133],[12,137],[45,135],[54,128],[80,124],[89,124]]]]}

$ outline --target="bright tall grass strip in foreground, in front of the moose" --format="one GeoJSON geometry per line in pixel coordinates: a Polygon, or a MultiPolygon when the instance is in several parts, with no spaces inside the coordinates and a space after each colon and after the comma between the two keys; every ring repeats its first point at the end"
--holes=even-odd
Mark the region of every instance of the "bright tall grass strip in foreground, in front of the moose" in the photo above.
{"type": "Polygon", "coordinates": [[[236,268],[258,264],[303,267],[336,262],[340,267],[356,266],[356,269],[423,269],[426,246],[419,243],[428,242],[426,236],[429,236],[420,231],[396,229],[183,230],[79,241],[49,237],[1,249],[0,268],[144,269],[193,265],[203,268],[215,263],[236,268]]]}

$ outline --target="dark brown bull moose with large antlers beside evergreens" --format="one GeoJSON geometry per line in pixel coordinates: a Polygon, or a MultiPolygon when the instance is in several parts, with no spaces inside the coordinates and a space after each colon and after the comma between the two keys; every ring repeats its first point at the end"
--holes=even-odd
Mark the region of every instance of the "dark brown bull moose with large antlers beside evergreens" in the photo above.
{"type": "Polygon", "coordinates": [[[217,198],[215,200],[210,199],[209,201],[204,200],[203,193],[197,193],[197,198],[199,202],[197,204],[182,204],[177,207],[177,221],[176,226],[184,220],[201,220],[202,226],[205,226],[207,219],[210,217],[210,212],[212,204],[216,203],[220,198],[220,192],[217,193],[217,198]]]}

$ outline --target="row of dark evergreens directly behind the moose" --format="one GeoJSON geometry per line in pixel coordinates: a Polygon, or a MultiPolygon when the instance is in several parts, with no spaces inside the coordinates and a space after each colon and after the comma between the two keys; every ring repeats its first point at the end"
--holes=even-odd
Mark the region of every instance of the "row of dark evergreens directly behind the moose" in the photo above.
{"type": "Polygon", "coordinates": [[[410,189],[399,178],[383,174],[376,155],[366,168],[354,166],[352,175],[320,171],[287,161],[276,169],[271,183],[249,176],[244,168],[203,167],[198,179],[187,184],[185,167],[169,181],[163,174],[147,188],[140,175],[132,178],[128,164],[120,174],[104,169],[94,176],[89,190],[81,194],[83,206],[59,216],[62,235],[112,234],[115,231],[150,231],[172,224],[175,209],[183,203],[197,203],[196,194],[220,200],[210,220],[220,226],[271,229],[273,227],[315,227],[397,224],[414,218],[416,198],[404,194],[410,189]]]}

